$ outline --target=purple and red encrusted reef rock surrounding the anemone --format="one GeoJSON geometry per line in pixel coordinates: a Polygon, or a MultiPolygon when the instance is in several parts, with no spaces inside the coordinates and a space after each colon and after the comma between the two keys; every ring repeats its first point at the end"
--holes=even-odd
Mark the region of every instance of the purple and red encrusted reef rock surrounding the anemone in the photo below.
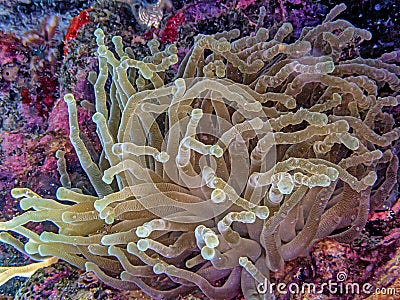
{"type": "MultiPolygon", "coordinates": [[[[94,93],[87,79],[91,71],[97,70],[93,38],[96,28],[101,27],[108,36],[121,36],[124,46],[132,47],[139,59],[148,55],[143,45],[156,35],[162,45],[175,43],[182,60],[199,33],[213,34],[232,28],[238,28],[242,36],[253,32],[261,6],[266,9],[263,26],[278,28],[283,22],[290,22],[293,37],[298,37],[303,27],[321,23],[327,12],[338,4],[329,0],[172,0],[159,26],[149,28],[137,20],[126,2],[129,1],[0,0],[1,221],[21,212],[18,201],[10,195],[14,187],[29,187],[47,197],[55,195],[61,185],[55,158],[58,149],[66,152],[73,186],[91,192],[68,139],[68,111],[62,97],[73,92],[81,104],[78,105],[81,138],[87,141],[90,154],[97,162],[101,146],[91,120],[94,93]],[[24,26],[17,26],[21,20],[24,26]]],[[[372,33],[370,41],[357,46],[361,55],[378,57],[400,49],[400,3],[343,2],[348,8],[341,17],[372,33]]],[[[165,74],[166,82],[172,80],[175,72],[172,68],[165,74]]],[[[394,115],[400,126],[400,112],[394,115]]],[[[308,257],[293,260],[286,264],[284,271],[272,273],[271,280],[321,284],[332,279],[324,270],[329,269],[330,274],[346,270],[346,282],[381,282],[383,286],[400,289],[399,225],[398,200],[391,208],[371,212],[361,238],[352,244],[323,239],[314,245],[308,257]]],[[[52,230],[53,226],[45,222],[28,227],[40,233],[44,228],[52,230]]],[[[26,262],[27,258],[12,247],[0,244],[0,265],[26,262]]],[[[109,288],[92,273],[62,262],[39,270],[29,279],[9,281],[0,287],[0,296],[1,299],[151,299],[140,292],[109,288]]],[[[298,297],[334,299],[328,295],[298,297]]],[[[357,297],[363,299],[361,295],[357,297]]],[[[239,294],[237,299],[241,298],[239,294]]],[[[280,294],[276,298],[300,299],[280,294]]],[[[205,298],[198,292],[183,295],[182,299],[205,298]]],[[[337,299],[347,298],[342,295],[337,299]]]]}

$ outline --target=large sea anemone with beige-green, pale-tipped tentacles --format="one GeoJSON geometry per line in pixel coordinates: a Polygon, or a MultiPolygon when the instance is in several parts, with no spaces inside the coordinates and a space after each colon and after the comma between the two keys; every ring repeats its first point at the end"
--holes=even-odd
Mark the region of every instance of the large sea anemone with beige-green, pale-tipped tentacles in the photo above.
{"type": "Polygon", "coordinates": [[[345,58],[348,43],[371,35],[336,20],[344,9],[293,42],[289,23],[272,38],[262,27],[199,35],[170,84],[174,45],[151,40],[139,61],[118,36],[114,55],[97,29],[99,164],[80,138],[74,96],[64,97],[96,194],[70,187],[59,153],[57,200],[13,189],[29,211],[0,230],[25,236],[10,243],[33,259],[56,257],[157,299],[195,288],[210,299],[273,298],[257,291],[270,271],[321,237],[356,238],[397,181],[400,130],[387,111],[400,100],[397,53],[345,58]],[[58,232],[25,227],[45,220],[58,232]]]}

